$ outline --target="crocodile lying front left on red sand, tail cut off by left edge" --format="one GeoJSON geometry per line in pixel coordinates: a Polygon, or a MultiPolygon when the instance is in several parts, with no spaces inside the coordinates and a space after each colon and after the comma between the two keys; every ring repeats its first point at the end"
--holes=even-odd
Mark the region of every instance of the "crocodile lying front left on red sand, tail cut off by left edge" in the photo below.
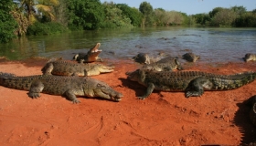
{"type": "Polygon", "coordinates": [[[77,96],[110,99],[120,101],[123,94],[112,89],[108,84],[90,77],[65,77],[52,75],[34,75],[19,77],[0,72],[0,85],[11,89],[28,90],[28,97],[37,99],[40,92],[61,95],[73,103],[80,103],[77,96]]]}

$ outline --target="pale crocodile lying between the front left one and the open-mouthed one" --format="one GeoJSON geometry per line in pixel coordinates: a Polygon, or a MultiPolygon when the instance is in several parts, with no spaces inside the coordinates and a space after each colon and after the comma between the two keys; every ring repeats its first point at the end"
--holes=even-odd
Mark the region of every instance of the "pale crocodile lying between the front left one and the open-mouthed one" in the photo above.
{"type": "Polygon", "coordinates": [[[52,74],[59,76],[95,76],[101,73],[112,72],[114,67],[102,64],[80,64],[71,61],[50,59],[44,68],[43,74],[52,74]]]}

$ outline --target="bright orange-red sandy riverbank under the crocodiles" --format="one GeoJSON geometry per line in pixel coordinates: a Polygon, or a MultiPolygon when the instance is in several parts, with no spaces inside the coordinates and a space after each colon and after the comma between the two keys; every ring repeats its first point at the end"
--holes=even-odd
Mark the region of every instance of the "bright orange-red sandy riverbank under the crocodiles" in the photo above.
{"type": "MultiPolygon", "coordinates": [[[[0,61],[0,71],[18,76],[40,75],[46,59],[0,61]]],[[[0,143],[2,145],[238,145],[256,141],[243,101],[256,94],[256,81],[240,89],[206,91],[186,99],[184,92],[157,92],[144,100],[145,88],[126,79],[140,68],[132,60],[106,60],[115,71],[100,79],[122,92],[120,102],[80,98],[72,104],[60,96],[0,86],[0,143]]],[[[256,71],[255,62],[184,63],[187,70],[218,74],[256,71]]]]}

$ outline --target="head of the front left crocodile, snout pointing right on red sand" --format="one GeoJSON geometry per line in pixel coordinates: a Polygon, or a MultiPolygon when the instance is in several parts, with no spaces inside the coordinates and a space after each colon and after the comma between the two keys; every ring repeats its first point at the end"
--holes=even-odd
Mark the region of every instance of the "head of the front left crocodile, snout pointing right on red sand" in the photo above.
{"type": "Polygon", "coordinates": [[[98,81],[93,89],[93,97],[99,97],[102,99],[111,99],[113,101],[121,101],[123,94],[112,89],[108,84],[98,81]]]}

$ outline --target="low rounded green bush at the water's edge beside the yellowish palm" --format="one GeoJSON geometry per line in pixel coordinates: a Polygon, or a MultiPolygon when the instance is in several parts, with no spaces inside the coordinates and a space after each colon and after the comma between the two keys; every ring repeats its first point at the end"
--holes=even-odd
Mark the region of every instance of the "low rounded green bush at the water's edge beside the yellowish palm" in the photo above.
{"type": "Polygon", "coordinates": [[[27,35],[35,35],[35,36],[52,35],[52,34],[60,34],[65,31],[68,31],[68,28],[56,22],[48,22],[48,23],[35,22],[33,25],[28,26],[27,35]]]}

